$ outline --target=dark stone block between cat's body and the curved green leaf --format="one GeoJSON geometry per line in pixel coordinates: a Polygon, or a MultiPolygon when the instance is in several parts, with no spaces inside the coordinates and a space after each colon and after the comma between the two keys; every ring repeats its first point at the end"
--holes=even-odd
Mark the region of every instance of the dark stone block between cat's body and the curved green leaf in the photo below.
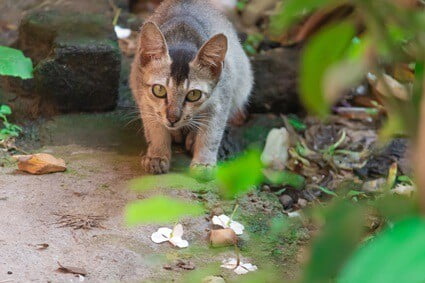
{"type": "Polygon", "coordinates": [[[297,113],[299,48],[276,48],[252,57],[255,85],[251,113],[297,113]]]}

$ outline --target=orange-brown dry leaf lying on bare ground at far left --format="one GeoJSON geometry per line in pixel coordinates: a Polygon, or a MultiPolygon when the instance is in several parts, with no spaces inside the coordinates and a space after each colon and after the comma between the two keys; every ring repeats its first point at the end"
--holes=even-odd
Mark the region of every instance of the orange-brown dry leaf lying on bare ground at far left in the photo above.
{"type": "Polygon", "coordinates": [[[66,164],[63,159],[56,158],[47,153],[37,153],[32,155],[15,155],[18,161],[18,168],[21,171],[42,175],[66,170],[66,164]]]}

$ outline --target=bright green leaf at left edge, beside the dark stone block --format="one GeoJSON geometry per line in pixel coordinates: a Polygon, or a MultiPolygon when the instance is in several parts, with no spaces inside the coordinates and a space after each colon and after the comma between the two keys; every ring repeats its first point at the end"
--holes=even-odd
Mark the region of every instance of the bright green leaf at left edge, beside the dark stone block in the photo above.
{"type": "Polygon", "coordinates": [[[0,46],[0,75],[32,79],[32,62],[22,51],[0,46]]]}

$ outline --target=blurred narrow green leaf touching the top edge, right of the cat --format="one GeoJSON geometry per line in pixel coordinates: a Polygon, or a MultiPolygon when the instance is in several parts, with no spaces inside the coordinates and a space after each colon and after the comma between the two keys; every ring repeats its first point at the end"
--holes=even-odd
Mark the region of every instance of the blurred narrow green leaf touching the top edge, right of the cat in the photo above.
{"type": "Polygon", "coordinates": [[[302,19],[303,16],[334,1],[286,0],[282,2],[281,10],[275,16],[271,17],[270,22],[270,29],[276,35],[284,32],[290,25],[302,19]]]}

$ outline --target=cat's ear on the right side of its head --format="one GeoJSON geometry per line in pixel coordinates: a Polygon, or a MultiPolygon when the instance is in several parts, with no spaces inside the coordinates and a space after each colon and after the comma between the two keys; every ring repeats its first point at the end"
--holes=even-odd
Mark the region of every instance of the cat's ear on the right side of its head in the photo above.
{"type": "Polygon", "coordinates": [[[211,70],[213,76],[218,77],[223,69],[227,53],[227,37],[217,34],[208,40],[199,50],[195,63],[211,70]]]}

